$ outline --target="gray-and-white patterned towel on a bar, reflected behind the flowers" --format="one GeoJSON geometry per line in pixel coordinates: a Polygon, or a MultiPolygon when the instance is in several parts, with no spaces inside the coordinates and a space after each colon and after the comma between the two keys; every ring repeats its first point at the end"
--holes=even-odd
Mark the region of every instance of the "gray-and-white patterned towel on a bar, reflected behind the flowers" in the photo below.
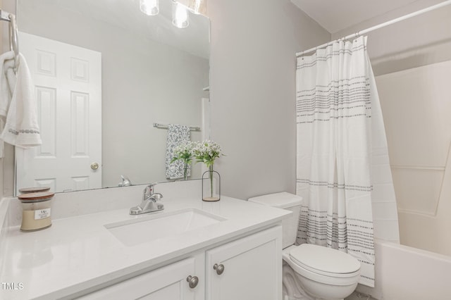
{"type": "MultiPolygon", "coordinates": [[[[183,161],[174,161],[174,148],[179,144],[190,141],[190,127],[185,125],[169,124],[168,139],[166,141],[166,178],[178,179],[183,178],[183,161]]],[[[188,166],[187,174],[190,175],[190,166],[188,166]]]]}

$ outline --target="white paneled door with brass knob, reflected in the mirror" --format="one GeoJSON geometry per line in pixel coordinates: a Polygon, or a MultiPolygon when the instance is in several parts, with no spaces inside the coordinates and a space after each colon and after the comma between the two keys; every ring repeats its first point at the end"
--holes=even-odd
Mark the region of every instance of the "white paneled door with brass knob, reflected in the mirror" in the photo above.
{"type": "Polygon", "coordinates": [[[35,84],[42,145],[16,147],[16,193],[101,187],[101,54],[23,32],[19,40],[35,84]]]}

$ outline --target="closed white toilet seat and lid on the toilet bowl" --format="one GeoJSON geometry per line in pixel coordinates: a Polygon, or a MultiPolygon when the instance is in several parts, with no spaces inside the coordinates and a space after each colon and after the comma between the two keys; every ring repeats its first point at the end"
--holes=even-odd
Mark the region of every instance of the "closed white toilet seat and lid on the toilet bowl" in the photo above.
{"type": "Polygon", "coordinates": [[[350,285],[360,274],[356,258],[324,246],[292,246],[283,258],[299,275],[329,285],[350,285]]]}

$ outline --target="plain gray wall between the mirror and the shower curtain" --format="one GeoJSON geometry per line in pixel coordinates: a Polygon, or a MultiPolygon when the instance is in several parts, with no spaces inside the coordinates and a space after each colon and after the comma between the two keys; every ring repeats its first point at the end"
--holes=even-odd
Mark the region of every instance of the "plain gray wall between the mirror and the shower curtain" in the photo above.
{"type": "Polygon", "coordinates": [[[330,34],[290,0],[209,0],[211,138],[221,192],[295,192],[295,53],[330,34]]]}

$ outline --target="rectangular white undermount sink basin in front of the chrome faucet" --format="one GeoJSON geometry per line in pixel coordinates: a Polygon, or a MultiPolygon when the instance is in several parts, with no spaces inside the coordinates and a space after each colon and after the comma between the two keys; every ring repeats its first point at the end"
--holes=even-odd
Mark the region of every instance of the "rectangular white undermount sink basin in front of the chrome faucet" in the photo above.
{"type": "Polygon", "coordinates": [[[134,246],[172,235],[219,223],[226,218],[187,208],[171,213],[159,213],[146,217],[104,225],[126,246],[134,246]]]}

